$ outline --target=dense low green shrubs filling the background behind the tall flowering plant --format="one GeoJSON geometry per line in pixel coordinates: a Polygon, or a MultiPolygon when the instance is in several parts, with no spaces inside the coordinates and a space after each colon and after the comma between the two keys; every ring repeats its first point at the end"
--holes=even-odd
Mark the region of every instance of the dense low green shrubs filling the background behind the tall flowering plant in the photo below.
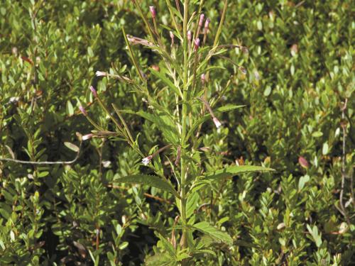
{"type": "MultiPolygon", "coordinates": [[[[170,45],[168,28],[174,26],[166,1],[141,2],[149,18],[149,6],[156,6],[157,20],[166,27],[163,41],[170,45]]],[[[200,1],[191,2],[190,10],[197,11],[200,1]]],[[[217,99],[226,89],[216,108],[244,108],[218,113],[223,125],[218,131],[207,120],[200,155],[193,159],[206,172],[251,162],[276,171],[240,174],[195,194],[190,200],[193,223],[208,221],[214,230],[231,235],[233,243],[195,232],[200,237],[196,246],[203,250],[212,245],[213,252],[182,262],[351,265],[352,1],[228,2],[219,43],[245,45],[249,53],[233,49],[225,55],[230,60],[212,59],[207,96],[217,99]]],[[[209,45],[223,9],[224,1],[204,3],[202,11],[211,18],[209,45]]],[[[173,248],[171,228],[179,213],[173,195],[117,179],[164,166],[163,174],[173,180],[166,169],[176,153],[156,157],[147,168],[124,142],[81,142],[76,134],[93,129],[77,108],[80,104],[102,128],[115,129],[88,89],[94,85],[104,104],[126,110],[124,119],[135,137],[140,134],[144,154],[165,145],[161,128],[134,114],[153,112],[146,98],[132,93],[129,84],[94,76],[97,70],[110,70],[138,80],[122,33],[124,27],[130,35],[148,35],[137,9],[121,0],[4,0],[0,15],[1,157],[69,161],[77,147],[67,144],[70,150],[65,143],[80,146],[72,164],[0,162],[0,265],[172,264],[167,250],[173,248]],[[162,262],[165,257],[168,261],[162,262]]],[[[159,92],[166,87],[149,70],[163,69],[157,52],[134,46],[133,53],[148,88],[159,92]]],[[[156,99],[173,109],[172,95],[156,99]]],[[[179,250],[181,232],[176,228],[179,250]]]]}

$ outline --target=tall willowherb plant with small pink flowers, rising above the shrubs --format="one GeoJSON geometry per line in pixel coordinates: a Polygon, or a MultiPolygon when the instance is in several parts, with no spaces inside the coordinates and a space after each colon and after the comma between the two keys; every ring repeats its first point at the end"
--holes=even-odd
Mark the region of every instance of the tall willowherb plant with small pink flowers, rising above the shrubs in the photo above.
{"type": "MultiPolygon", "coordinates": [[[[202,124],[212,122],[219,131],[222,127],[218,119],[219,113],[241,107],[235,105],[216,107],[226,93],[233,75],[226,82],[226,87],[217,95],[212,96],[209,72],[213,71],[214,67],[210,65],[210,60],[212,57],[219,57],[236,65],[225,57],[224,53],[231,49],[240,49],[242,52],[248,52],[248,50],[241,45],[219,45],[228,4],[226,0],[218,29],[213,33],[209,29],[210,19],[205,18],[202,13],[204,1],[200,1],[197,11],[191,12],[190,1],[185,0],[183,4],[175,1],[171,4],[167,0],[166,5],[173,28],[159,26],[159,14],[154,6],[150,6],[149,11],[143,11],[138,0],[132,2],[141,16],[147,33],[145,38],[141,38],[143,36],[129,35],[126,34],[124,28],[122,29],[136,75],[126,77],[114,67],[110,72],[97,71],[96,75],[125,82],[130,85],[133,92],[146,99],[149,111],[138,111],[136,114],[155,124],[162,136],[161,143],[157,143],[148,155],[147,151],[141,150],[139,134],[131,133],[130,126],[124,120],[124,112],[114,104],[111,107],[104,104],[94,87],[90,87],[92,94],[114,122],[116,131],[107,131],[99,126],[80,106],[80,111],[95,128],[92,133],[84,135],[82,140],[118,138],[126,141],[141,156],[142,166],[148,167],[150,174],[129,175],[120,178],[117,182],[145,184],[170,192],[178,208],[171,235],[167,237],[167,235],[157,233],[161,245],[155,250],[156,255],[148,258],[147,262],[186,264],[192,262],[197,254],[214,254],[211,248],[214,241],[233,245],[235,240],[235,236],[231,237],[226,232],[219,231],[207,221],[196,221],[194,212],[198,207],[198,194],[211,182],[222,182],[223,179],[244,172],[271,170],[251,165],[227,165],[213,172],[204,170],[202,153],[204,149],[201,147],[202,124]],[[183,9],[183,13],[180,13],[180,8],[183,9]],[[146,13],[149,15],[146,16],[146,13]],[[165,35],[168,38],[163,38],[165,35]],[[141,48],[155,52],[160,57],[158,66],[143,70],[133,52],[135,45],[141,45],[141,48]],[[160,81],[161,87],[153,89],[150,82],[153,78],[160,81]],[[111,108],[116,116],[111,113],[111,108]],[[158,146],[162,148],[156,149],[158,146]],[[160,160],[155,161],[155,158],[160,158],[163,153],[168,162],[164,165],[160,160]],[[164,168],[168,168],[169,171],[164,171],[164,168]],[[165,172],[170,172],[170,174],[167,175],[165,172]],[[202,236],[196,237],[194,231],[200,231],[202,236]],[[204,237],[208,237],[209,240],[207,241],[204,237]]],[[[239,65],[236,67],[246,74],[244,67],[239,65]]],[[[125,112],[135,113],[127,110],[125,112]]],[[[148,170],[143,168],[142,172],[148,170]]]]}

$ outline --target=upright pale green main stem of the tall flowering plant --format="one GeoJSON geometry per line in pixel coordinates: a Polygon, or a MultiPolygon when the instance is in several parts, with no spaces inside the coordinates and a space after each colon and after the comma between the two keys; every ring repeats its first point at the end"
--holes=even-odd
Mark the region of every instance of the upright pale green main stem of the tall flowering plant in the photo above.
{"type": "MultiPolygon", "coordinates": [[[[189,1],[184,1],[184,22],[183,22],[183,46],[184,46],[184,79],[183,79],[183,95],[182,95],[182,133],[181,133],[181,218],[182,223],[186,224],[186,175],[187,165],[185,164],[185,138],[186,138],[186,119],[187,119],[187,16],[188,16],[189,1]]],[[[182,229],[181,236],[182,248],[187,248],[187,231],[182,229]]]]}

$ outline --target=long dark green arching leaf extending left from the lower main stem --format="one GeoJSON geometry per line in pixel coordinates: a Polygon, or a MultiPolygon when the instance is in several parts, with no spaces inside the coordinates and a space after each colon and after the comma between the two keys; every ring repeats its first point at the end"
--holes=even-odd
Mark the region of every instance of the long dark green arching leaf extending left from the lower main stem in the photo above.
{"type": "Polygon", "coordinates": [[[131,184],[145,184],[150,187],[156,187],[157,189],[162,189],[166,192],[173,193],[175,196],[179,196],[178,192],[175,191],[172,184],[168,181],[157,177],[156,175],[149,174],[132,174],[126,177],[121,177],[116,179],[115,182],[119,183],[131,183],[131,184]]]}

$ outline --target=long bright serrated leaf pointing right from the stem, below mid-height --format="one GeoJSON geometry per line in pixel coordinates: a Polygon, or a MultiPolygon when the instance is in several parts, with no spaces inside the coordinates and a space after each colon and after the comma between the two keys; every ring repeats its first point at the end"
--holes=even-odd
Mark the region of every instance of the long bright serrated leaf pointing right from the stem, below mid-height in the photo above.
{"type": "Polygon", "coordinates": [[[272,168],[266,168],[266,167],[254,166],[254,165],[234,165],[214,172],[207,172],[207,174],[205,174],[204,177],[200,178],[200,181],[234,177],[237,174],[243,174],[246,172],[269,172],[269,171],[275,171],[275,170],[273,170],[272,168]]]}

